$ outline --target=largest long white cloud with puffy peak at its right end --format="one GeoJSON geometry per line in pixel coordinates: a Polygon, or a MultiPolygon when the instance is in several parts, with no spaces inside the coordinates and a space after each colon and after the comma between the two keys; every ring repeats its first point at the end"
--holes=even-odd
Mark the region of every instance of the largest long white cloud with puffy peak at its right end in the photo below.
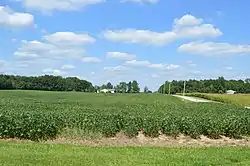
{"type": "Polygon", "coordinates": [[[107,30],[103,33],[107,40],[162,46],[179,39],[195,39],[204,37],[217,37],[222,32],[212,24],[204,24],[203,20],[192,15],[184,15],[174,20],[173,29],[165,32],[153,32],[150,30],[122,29],[107,30]]]}

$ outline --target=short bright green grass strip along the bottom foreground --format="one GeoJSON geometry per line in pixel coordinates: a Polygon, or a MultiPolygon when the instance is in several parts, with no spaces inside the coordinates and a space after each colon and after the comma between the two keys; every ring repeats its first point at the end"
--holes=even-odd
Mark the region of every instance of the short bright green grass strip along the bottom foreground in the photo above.
{"type": "Polygon", "coordinates": [[[250,149],[80,147],[0,142],[0,165],[250,165],[250,149]]]}

